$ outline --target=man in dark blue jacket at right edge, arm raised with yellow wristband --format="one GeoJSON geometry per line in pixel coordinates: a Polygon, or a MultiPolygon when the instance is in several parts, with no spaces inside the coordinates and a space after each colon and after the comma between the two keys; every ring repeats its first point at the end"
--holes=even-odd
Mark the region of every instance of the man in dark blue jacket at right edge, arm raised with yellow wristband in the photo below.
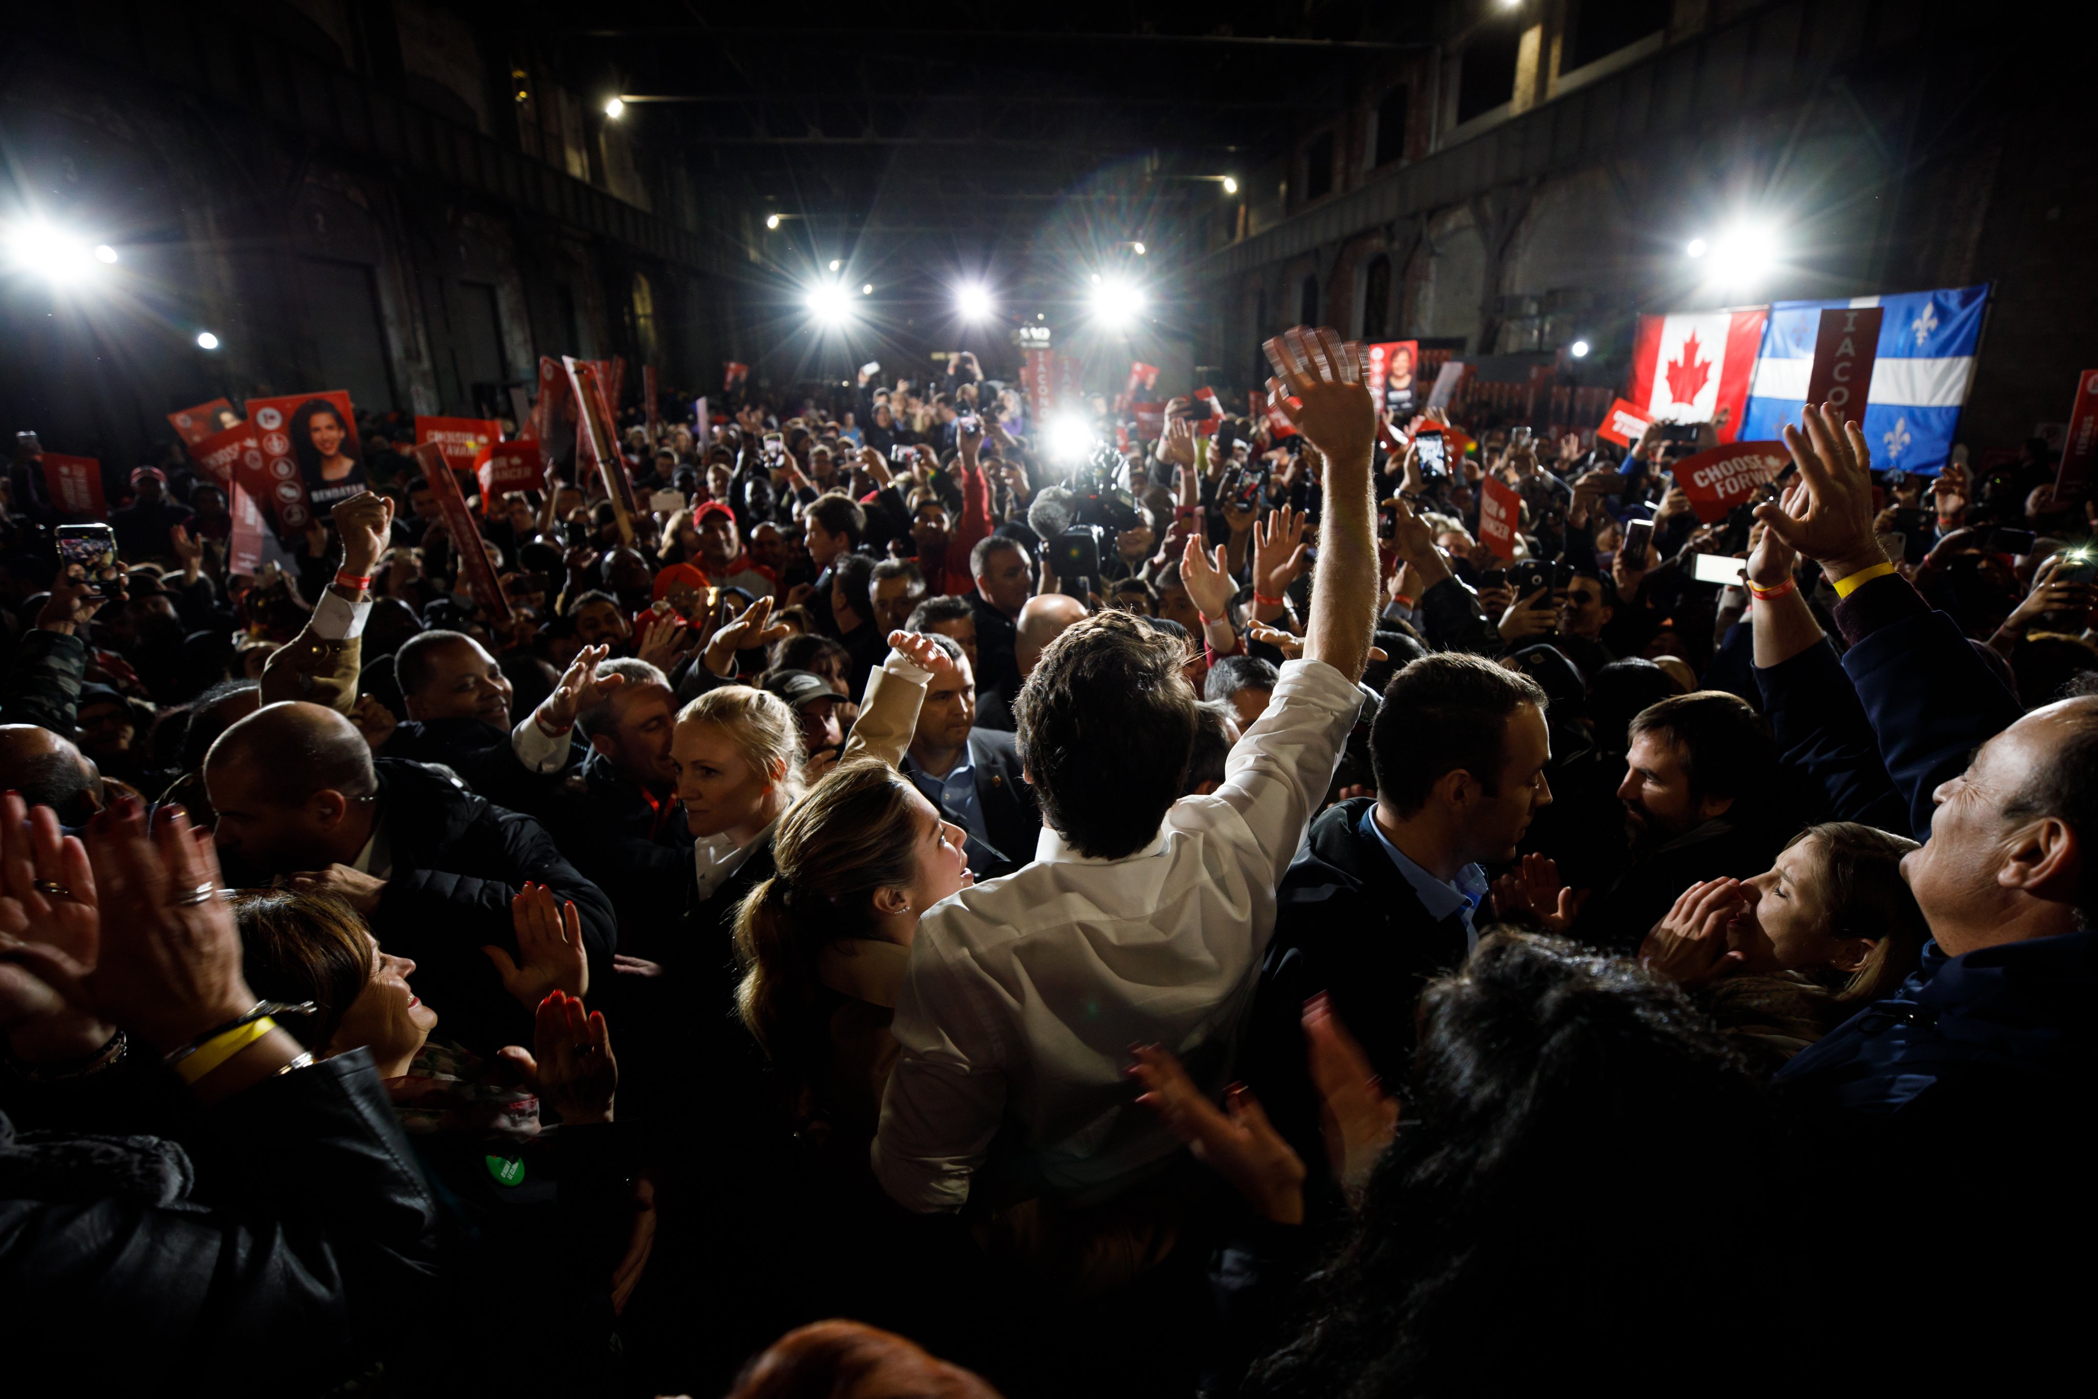
{"type": "Polygon", "coordinates": [[[2046,1254],[2075,1256],[2092,1237],[2098,698],[2020,717],[1880,552],[1857,426],[1808,409],[1785,445],[1800,480],[1756,514],[1840,596],[1844,671],[1926,837],[1903,877],[1932,942],[1894,996],[1802,1051],[1777,1089],[1827,1179],[1874,1191],[1876,1214],[1901,1221],[1888,1246],[1924,1269],[1922,1294],[1876,1305],[1911,1319],[1915,1303],[1951,1307],[1981,1336],[2014,1326],[2029,1342],[2016,1357],[1995,1344],[1934,1355],[1985,1357],[2001,1382],[2035,1344],[2073,1334],[2054,1323],[2069,1326],[2075,1288],[2041,1282],[2046,1254]]]}

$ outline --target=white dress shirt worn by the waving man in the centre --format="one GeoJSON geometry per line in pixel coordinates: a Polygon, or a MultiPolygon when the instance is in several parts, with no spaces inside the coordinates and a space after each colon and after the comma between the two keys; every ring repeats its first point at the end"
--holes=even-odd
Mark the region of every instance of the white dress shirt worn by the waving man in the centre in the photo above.
{"type": "Polygon", "coordinates": [[[1223,787],[1181,797],[1150,845],[1093,860],[1045,828],[1034,864],[925,912],[873,1145],[892,1198],[959,1210],[1007,1120],[1015,1175],[1072,1204],[1114,1196],[1179,1149],[1137,1103],[1129,1047],[1158,1042],[1206,1091],[1223,1089],[1276,885],[1360,709],[1341,671],[1290,661],[1223,787]]]}

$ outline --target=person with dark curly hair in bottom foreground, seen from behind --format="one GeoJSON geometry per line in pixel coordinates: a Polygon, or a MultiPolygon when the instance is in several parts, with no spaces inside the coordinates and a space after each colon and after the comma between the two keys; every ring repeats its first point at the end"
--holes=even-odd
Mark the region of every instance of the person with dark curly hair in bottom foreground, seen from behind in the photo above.
{"type": "Polygon", "coordinates": [[[1792,1208],[1762,1093],[1678,990],[1563,940],[1490,933],[1429,984],[1418,1024],[1418,1122],[1372,1168],[1305,1328],[1246,1395],[1676,1386],[1712,1374],[1708,1336],[1649,1326],[1636,1355],[1597,1344],[1655,1277],[1722,1315],[1798,1284],[1790,1244],[1641,1200],[1655,1162],[1695,1160],[1699,1193],[1792,1208]],[[1521,1344],[1511,1296],[1538,1300],[1521,1344]]]}

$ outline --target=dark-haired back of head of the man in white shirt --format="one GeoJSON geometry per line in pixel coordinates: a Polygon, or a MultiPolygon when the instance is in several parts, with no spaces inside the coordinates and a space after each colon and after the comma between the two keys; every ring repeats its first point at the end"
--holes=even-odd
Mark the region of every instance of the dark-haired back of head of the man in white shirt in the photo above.
{"type": "Polygon", "coordinates": [[[1099,612],[1049,642],[1013,701],[1043,820],[1078,854],[1143,849],[1179,799],[1196,696],[1183,652],[1141,617],[1099,612]]]}

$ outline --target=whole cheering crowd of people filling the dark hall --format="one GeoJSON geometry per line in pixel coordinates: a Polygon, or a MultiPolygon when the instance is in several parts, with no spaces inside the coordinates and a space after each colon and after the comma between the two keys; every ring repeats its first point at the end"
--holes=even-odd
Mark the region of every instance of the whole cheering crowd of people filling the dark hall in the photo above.
{"type": "Polygon", "coordinates": [[[1265,348],[1271,413],[1099,403],[1080,459],[973,357],[751,392],[472,541],[367,430],[254,575],[178,453],[111,566],[19,461],[10,1372],[2037,1382],[2092,1242],[2090,508],[1808,407],[1699,520],[1664,428],[1473,443],[1265,348]]]}

